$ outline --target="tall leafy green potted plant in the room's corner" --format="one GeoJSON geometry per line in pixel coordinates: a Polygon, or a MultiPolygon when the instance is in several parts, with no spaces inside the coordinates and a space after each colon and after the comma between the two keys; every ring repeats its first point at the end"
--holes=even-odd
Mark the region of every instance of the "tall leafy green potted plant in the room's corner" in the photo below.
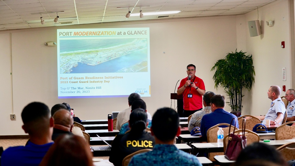
{"type": "Polygon", "coordinates": [[[255,82],[254,66],[252,55],[245,55],[246,52],[227,53],[224,59],[219,59],[211,71],[215,70],[213,76],[215,88],[224,87],[230,99],[227,104],[232,111],[242,112],[242,89],[251,90],[252,83],[255,82]]]}

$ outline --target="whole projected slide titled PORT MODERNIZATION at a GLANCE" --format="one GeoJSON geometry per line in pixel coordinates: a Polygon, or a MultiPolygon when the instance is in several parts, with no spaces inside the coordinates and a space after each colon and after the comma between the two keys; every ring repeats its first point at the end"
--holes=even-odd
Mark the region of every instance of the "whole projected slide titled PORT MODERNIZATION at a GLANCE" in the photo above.
{"type": "Polygon", "coordinates": [[[150,97],[150,29],[58,29],[58,98],[150,97]]]}

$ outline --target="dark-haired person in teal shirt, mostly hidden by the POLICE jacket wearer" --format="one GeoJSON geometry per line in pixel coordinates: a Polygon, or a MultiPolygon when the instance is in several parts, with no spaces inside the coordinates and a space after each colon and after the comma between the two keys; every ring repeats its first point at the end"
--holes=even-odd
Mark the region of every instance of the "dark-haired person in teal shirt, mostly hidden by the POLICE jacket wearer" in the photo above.
{"type": "MultiPolygon", "coordinates": [[[[142,100],[142,99],[137,99],[135,100],[133,103],[132,103],[132,106],[131,106],[131,112],[132,110],[135,110],[137,108],[141,108],[141,109],[144,109],[145,112],[147,112],[147,105],[145,104],[145,102],[142,100]]],[[[131,113],[130,112],[130,113],[131,113]]],[[[147,112],[148,113],[148,112],[147,112]]],[[[152,120],[148,119],[148,128],[150,128],[152,126],[152,120]]],[[[121,126],[121,129],[120,129],[120,132],[119,134],[124,134],[125,132],[127,132],[128,130],[130,130],[129,128],[129,124],[128,122],[127,123],[124,123],[122,126],[121,126]]]]}

